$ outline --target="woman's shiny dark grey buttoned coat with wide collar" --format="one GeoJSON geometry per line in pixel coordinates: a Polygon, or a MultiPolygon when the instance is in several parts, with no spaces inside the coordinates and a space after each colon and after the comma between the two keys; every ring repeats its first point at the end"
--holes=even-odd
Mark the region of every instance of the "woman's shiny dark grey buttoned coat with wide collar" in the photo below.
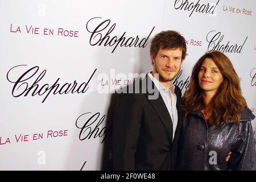
{"type": "Polygon", "coordinates": [[[241,113],[239,126],[208,126],[200,110],[183,122],[177,159],[178,170],[256,170],[255,118],[249,109],[241,113]],[[233,152],[230,161],[225,158],[233,152]]]}

